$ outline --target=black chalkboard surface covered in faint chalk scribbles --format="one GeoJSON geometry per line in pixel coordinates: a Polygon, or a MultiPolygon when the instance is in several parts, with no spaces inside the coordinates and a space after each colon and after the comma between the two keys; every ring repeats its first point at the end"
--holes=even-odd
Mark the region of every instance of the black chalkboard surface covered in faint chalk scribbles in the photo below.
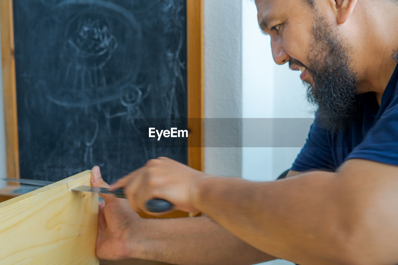
{"type": "Polygon", "coordinates": [[[187,117],[184,0],[14,0],[20,177],[94,165],[108,182],[179,146],[143,145],[139,119],[187,117]]]}

